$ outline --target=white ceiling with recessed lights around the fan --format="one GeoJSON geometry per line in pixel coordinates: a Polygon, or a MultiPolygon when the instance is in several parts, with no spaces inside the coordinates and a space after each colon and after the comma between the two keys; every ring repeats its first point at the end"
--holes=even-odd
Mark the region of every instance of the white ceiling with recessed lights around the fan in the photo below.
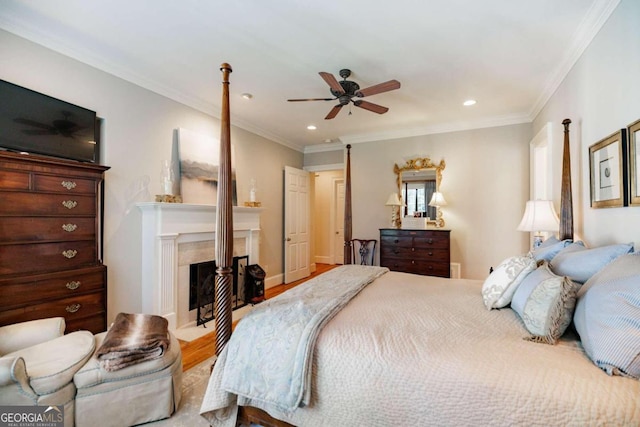
{"type": "Polygon", "coordinates": [[[318,151],[529,122],[618,2],[2,0],[0,28],[217,117],[228,62],[233,125],[318,151]],[[287,102],[331,97],[318,72],[342,68],[361,88],[399,80],[365,98],[389,111],[287,102]]]}

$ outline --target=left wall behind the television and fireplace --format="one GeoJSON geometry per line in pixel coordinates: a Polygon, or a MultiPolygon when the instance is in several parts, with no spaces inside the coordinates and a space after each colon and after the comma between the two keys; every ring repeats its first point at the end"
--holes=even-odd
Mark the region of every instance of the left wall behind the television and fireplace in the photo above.
{"type": "MultiPolygon", "coordinates": [[[[139,311],[143,272],[140,214],[134,204],[151,201],[148,197],[160,193],[161,164],[171,157],[174,129],[183,127],[219,138],[219,120],[1,30],[0,78],[95,110],[104,118],[101,163],[111,166],[105,180],[107,320],[120,311],[139,311]],[[140,193],[135,197],[145,180],[149,182],[147,198],[140,193]]],[[[211,93],[221,94],[221,85],[212,87],[211,93]]],[[[233,76],[231,94],[233,97],[233,76]]],[[[301,168],[302,153],[235,127],[231,139],[238,202],[248,200],[249,180],[255,178],[258,200],[265,208],[260,264],[268,277],[280,275],[283,170],[285,165],[301,168]]]]}

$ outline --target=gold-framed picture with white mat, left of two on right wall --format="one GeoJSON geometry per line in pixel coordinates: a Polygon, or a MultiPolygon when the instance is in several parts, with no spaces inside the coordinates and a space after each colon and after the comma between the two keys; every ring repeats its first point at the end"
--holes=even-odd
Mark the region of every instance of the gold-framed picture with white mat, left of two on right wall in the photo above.
{"type": "Polygon", "coordinates": [[[626,129],[589,147],[591,207],[627,205],[626,129]]]}

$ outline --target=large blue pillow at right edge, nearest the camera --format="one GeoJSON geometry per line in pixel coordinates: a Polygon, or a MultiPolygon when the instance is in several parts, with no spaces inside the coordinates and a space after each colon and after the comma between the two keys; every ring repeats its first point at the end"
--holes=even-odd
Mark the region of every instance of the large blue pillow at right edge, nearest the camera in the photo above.
{"type": "Polygon", "coordinates": [[[640,253],[616,258],[583,288],[573,320],[587,356],[609,375],[640,379],[640,253]]]}

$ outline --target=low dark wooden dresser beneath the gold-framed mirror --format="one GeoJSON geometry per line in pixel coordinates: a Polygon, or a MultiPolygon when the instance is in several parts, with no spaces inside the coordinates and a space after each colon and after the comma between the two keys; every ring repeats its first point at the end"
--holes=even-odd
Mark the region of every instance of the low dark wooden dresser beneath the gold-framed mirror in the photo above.
{"type": "Polygon", "coordinates": [[[380,265],[393,271],[450,277],[450,230],[380,229],[380,265]]]}

